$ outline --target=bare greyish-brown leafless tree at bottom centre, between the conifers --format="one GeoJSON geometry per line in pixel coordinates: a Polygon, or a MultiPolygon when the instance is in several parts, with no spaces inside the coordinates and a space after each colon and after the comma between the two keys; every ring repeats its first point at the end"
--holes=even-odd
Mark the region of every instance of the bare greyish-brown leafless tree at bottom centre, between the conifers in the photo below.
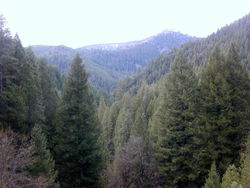
{"type": "Polygon", "coordinates": [[[113,169],[106,172],[107,187],[159,187],[152,148],[141,137],[131,137],[116,156],[113,169]]]}

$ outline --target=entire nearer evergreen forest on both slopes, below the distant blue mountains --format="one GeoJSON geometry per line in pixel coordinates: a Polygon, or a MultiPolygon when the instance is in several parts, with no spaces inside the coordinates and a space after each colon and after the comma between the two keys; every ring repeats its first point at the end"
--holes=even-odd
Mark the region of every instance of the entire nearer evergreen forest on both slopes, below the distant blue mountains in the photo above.
{"type": "Polygon", "coordinates": [[[250,15],[159,55],[113,96],[0,18],[0,187],[250,187],[250,15]]]}

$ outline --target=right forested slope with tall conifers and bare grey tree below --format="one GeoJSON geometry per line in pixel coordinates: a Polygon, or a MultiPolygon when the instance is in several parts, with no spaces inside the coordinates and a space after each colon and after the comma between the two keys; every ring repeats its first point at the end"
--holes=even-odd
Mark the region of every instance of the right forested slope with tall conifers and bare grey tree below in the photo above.
{"type": "Polygon", "coordinates": [[[107,187],[249,187],[249,19],[160,55],[100,103],[107,187]]]}

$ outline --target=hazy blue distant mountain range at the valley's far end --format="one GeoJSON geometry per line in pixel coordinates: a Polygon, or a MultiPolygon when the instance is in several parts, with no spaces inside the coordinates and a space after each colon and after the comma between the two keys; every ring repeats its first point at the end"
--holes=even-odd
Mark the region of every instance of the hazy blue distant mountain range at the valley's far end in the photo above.
{"type": "Polygon", "coordinates": [[[141,41],[97,44],[72,49],[66,46],[32,46],[34,53],[67,74],[76,53],[84,60],[90,82],[97,88],[112,91],[119,80],[135,74],[159,54],[166,54],[195,37],[164,31],[141,41]]]}

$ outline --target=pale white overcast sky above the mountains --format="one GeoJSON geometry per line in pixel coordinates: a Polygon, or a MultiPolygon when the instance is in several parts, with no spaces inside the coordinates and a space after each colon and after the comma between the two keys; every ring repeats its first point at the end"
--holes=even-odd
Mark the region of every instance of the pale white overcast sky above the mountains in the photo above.
{"type": "Polygon", "coordinates": [[[206,37],[250,12],[250,0],[0,0],[24,46],[141,40],[164,30],[206,37]]]}

